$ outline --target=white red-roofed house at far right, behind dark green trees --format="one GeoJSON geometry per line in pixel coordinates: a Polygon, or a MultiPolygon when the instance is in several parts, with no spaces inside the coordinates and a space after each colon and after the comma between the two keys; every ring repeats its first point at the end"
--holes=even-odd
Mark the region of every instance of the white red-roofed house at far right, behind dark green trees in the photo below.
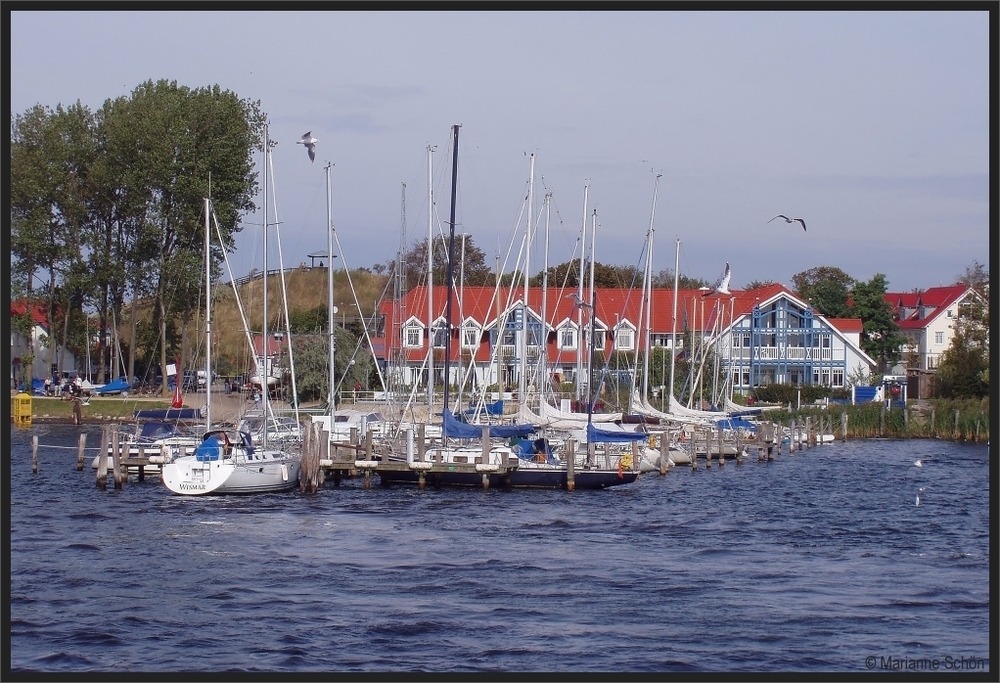
{"type": "Polygon", "coordinates": [[[902,349],[915,354],[915,371],[933,372],[941,355],[951,346],[955,322],[963,311],[975,302],[985,303],[983,296],[968,285],[931,287],[922,292],[886,292],[885,300],[892,306],[894,319],[908,344],[902,349]]]}

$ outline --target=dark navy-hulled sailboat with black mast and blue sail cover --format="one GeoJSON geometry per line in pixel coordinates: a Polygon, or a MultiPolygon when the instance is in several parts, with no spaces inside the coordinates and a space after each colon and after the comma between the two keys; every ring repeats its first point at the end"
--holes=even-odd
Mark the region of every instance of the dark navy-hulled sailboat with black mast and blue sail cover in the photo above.
{"type": "MultiPolygon", "coordinates": [[[[452,158],[452,184],[451,184],[451,220],[450,220],[450,243],[448,254],[448,300],[445,308],[445,325],[447,334],[445,335],[444,354],[444,410],[442,411],[442,444],[437,448],[428,449],[428,455],[437,462],[447,463],[477,463],[476,471],[416,471],[408,470],[384,470],[380,477],[383,485],[395,483],[418,484],[425,478],[434,486],[483,486],[484,481],[491,487],[502,488],[577,488],[577,489],[603,489],[609,486],[617,486],[635,481],[638,476],[637,471],[631,467],[626,471],[619,460],[617,468],[593,467],[589,458],[582,461],[583,469],[573,475],[572,484],[569,483],[567,463],[556,458],[545,439],[525,440],[530,434],[535,432],[534,424],[515,425],[470,425],[460,422],[451,412],[449,406],[449,384],[451,370],[451,327],[452,327],[452,296],[454,284],[454,251],[455,251],[455,209],[456,193],[458,188],[458,129],[453,126],[453,158],[452,158]],[[445,439],[459,439],[466,442],[465,446],[445,445],[445,439]],[[506,443],[484,443],[490,438],[497,439],[520,439],[516,446],[506,443]],[[479,443],[472,443],[479,440],[479,443]],[[512,465],[515,465],[512,467],[512,465]]],[[[530,213],[530,212],[529,212],[530,213]]],[[[530,242],[530,227],[529,227],[530,242]]],[[[526,276],[527,278],[527,276],[526,276]]],[[[527,281],[527,280],[526,280],[527,281]]],[[[526,293],[527,294],[527,293],[526,293]]],[[[527,295],[524,299],[524,320],[527,321],[527,295]]],[[[527,325],[522,328],[522,335],[526,334],[527,325]]],[[[523,352],[524,339],[522,337],[521,354],[521,387],[519,392],[523,407],[524,379],[525,375],[525,354],[523,352]]],[[[589,401],[588,401],[589,403],[589,401]]],[[[643,437],[644,438],[644,437],[643,437]]],[[[412,452],[408,444],[407,452],[412,452]]],[[[574,461],[575,465],[575,461],[574,461]]],[[[575,469],[575,468],[574,468],[575,469]]]]}

